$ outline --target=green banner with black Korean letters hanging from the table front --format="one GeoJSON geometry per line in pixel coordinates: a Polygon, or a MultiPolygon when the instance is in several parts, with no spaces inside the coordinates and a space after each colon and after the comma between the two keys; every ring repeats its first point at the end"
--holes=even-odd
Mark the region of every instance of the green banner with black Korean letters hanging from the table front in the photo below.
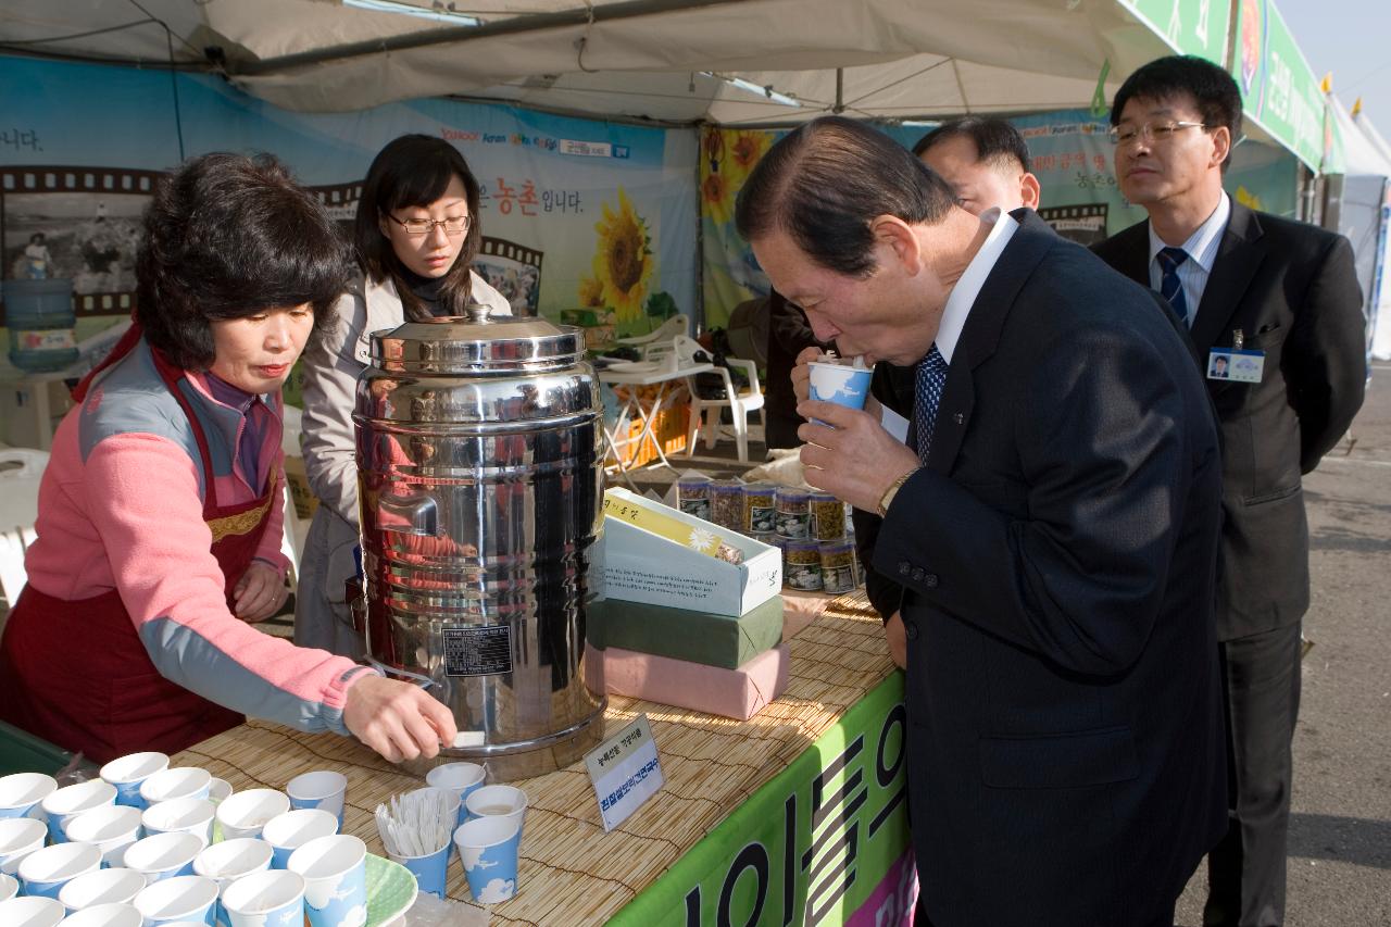
{"type": "Polygon", "coordinates": [[[906,728],[894,672],[609,923],[907,923],[906,728]]]}

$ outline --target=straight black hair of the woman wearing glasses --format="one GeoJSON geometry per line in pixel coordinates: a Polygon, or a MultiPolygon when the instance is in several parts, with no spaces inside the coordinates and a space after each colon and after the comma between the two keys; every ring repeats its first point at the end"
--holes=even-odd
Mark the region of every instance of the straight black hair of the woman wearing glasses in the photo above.
{"type": "Polygon", "coordinates": [[[444,139],[430,135],[402,135],[377,152],[371,167],[367,168],[367,181],[363,184],[353,223],[357,260],[363,273],[371,280],[381,283],[391,278],[408,319],[430,319],[431,313],[406,284],[405,266],[396,256],[391,239],[383,234],[381,221],[387,213],[398,209],[428,206],[435,202],[444,196],[449,181],[455,177],[463,181],[470,221],[463,248],[459,249],[459,256],[440,288],[440,303],[448,308],[445,315],[462,316],[463,308],[469,303],[469,271],[483,241],[483,223],[479,221],[479,181],[469,170],[469,163],[463,160],[459,149],[444,139]]]}

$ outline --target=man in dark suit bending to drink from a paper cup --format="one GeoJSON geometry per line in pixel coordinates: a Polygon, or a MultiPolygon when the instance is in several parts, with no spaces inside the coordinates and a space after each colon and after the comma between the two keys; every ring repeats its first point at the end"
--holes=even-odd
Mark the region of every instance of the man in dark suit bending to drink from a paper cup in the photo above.
{"type": "Polygon", "coordinates": [[[736,212],[818,340],[878,362],[869,411],[798,405],[801,459],[882,519],[926,921],[1167,927],[1225,789],[1217,434],[1159,296],[839,117],[736,212]]]}

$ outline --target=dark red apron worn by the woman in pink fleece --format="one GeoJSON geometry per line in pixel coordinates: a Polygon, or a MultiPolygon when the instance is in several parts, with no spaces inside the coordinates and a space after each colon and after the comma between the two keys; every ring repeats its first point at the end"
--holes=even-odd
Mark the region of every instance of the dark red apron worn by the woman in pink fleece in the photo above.
{"type": "MultiPolygon", "coordinates": [[[[118,349],[128,351],[134,341],[118,349]]],[[[227,579],[231,608],[232,587],[266,530],[275,480],[267,476],[259,500],[217,504],[207,438],[178,388],[184,372],[153,354],[193,426],[206,490],[203,521],[213,532],[211,554],[227,579]]],[[[68,601],[32,585],[19,594],[0,640],[0,718],[97,763],[140,750],[177,753],[245,720],[159,674],[117,590],[68,601]]]]}

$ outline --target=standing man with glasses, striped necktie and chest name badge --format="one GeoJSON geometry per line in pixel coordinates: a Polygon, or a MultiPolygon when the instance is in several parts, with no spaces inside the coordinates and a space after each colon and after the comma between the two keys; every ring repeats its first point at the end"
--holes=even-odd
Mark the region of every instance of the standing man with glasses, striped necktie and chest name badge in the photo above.
{"type": "Polygon", "coordinates": [[[1223,192],[1241,122],[1237,84],[1214,64],[1168,57],[1132,74],[1111,107],[1116,177],[1149,220],[1096,253],[1184,320],[1220,422],[1216,615],[1231,825],[1209,857],[1203,923],[1273,927],[1284,923],[1289,742],[1309,607],[1301,475],[1362,405],[1366,341],[1348,241],[1223,192]]]}

